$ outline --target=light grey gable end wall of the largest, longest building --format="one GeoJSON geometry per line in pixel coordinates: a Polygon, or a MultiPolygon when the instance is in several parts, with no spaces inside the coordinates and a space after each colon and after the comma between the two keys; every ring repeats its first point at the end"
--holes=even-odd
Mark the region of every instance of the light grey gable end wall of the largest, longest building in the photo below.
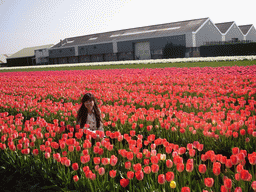
{"type": "Polygon", "coordinates": [[[201,45],[204,44],[204,42],[222,40],[221,33],[210,20],[208,20],[205,23],[205,25],[195,35],[196,35],[195,47],[200,47],[201,45]]]}

